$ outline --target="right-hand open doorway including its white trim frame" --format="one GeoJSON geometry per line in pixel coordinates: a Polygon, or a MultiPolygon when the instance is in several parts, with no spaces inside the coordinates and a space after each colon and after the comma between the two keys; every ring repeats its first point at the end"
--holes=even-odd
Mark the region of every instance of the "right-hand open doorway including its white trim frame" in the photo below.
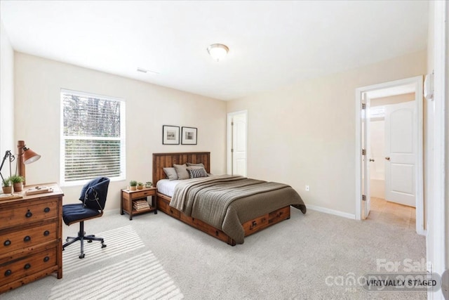
{"type": "Polygon", "coordinates": [[[356,219],[402,209],[425,234],[422,115],[422,77],[356,89],[356,219]]]}

